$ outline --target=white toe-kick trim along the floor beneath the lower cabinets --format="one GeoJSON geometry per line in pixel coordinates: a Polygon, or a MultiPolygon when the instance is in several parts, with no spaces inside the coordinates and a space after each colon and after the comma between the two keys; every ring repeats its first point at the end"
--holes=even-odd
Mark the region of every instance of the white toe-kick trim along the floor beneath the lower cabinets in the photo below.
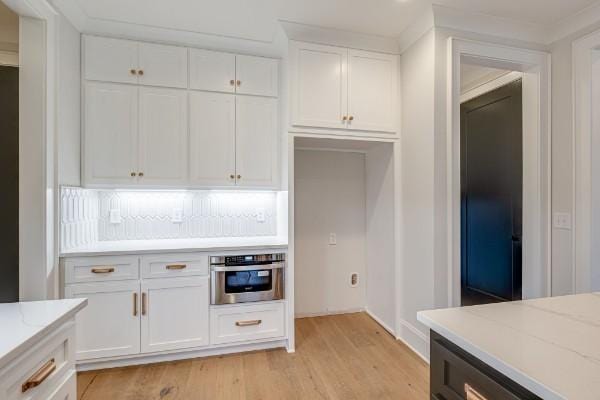
{"type": "MultiPolygon", "coordinates": [[[[77,363],[77,371],[92,371],[96,369],[125,367],[131,365],[154,364],[159,362],[186,360],[198,357],[210,357],[232,353],[243,353],[247,351],[266,350],[274,348],[285,348],[286,340],[246,343],[240,345],[231,344],[211,346],[205,349],[184,350],[180,352],[136,354],[133,356],[113,357],[98,360],[80,361],[77,363]]],[[[288,350],[289,352],[289,350],[288,350]]]]}

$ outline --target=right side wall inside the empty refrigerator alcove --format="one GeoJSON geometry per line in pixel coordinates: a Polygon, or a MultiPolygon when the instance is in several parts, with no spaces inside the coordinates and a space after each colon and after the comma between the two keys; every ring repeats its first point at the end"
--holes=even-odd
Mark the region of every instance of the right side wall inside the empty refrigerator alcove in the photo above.
{"type": "Polygon", "coordinates": [[[396,237],[394,145],[366,153],[367,310],[389,331],[396,331],[396,237]]]}

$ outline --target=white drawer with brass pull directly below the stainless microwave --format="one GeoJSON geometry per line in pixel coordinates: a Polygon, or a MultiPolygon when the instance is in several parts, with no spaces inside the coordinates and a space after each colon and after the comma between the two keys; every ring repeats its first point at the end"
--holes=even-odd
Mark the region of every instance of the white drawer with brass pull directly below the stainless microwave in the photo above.
{"type": "Polygon", "coordinates": [[[284,336],[284,316],[282,302],[213,307],[210,310],[211,344],[284,336]]]}

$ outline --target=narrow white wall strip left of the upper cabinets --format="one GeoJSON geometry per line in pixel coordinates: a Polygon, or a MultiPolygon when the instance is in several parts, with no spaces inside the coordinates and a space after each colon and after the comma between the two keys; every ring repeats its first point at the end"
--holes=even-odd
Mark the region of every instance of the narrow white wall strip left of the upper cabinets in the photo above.
{"type": "Polygon", "coordinates": [[[79,186],[81,115],[81,35],[58,17],[57,162],[58,184],[79,186]]]}

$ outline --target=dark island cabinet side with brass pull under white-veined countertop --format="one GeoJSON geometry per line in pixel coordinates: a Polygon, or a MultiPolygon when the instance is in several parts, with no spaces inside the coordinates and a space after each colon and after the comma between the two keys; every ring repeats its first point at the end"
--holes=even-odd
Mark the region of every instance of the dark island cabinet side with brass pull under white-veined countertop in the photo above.
{"type": "Polygon", "coordinates": [[[430,346],[432,400],[541,399],[434,331],[430,346]]]}

